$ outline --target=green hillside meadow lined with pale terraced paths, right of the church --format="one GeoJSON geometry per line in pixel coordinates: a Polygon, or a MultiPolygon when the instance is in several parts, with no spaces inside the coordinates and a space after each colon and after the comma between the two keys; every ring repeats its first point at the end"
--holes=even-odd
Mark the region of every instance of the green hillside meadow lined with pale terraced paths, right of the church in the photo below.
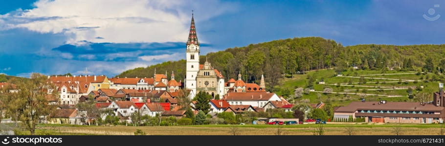
{"type": "MultiPolygon", "coordinates": [[[[357,74],[364,75],[364,74],[381,74],[381,71],[362,71],[357,70],[354,71],[356,73],[353,73],[351,71],[343,72],[344,75],[354,76],[357,74]]],[[[397,72],[397,71],[387,71],[385,72],[386,75],[376,75],[376,76],[366,76],[366,77],[381,77],[381,78],[396,78],[396,79],[415,79],[420,80],[421,76],[424,75],[417,75],[417,74],[394,74],[389,75],[388,73],[413,73],[413,72],[397,72]]],[[[293,89],[302,87],[305,88],[307,83],[307,77],[308,75],[315,75],[316,76],[316,82],[318,82],[322,77],[324,78],[324,81],[326,84],[335,84],[335,83],[348,83],[349,80],[351,82],[359,82],[359,78],[347,78],[347,77],[337,77],[334,70],[318,70],[318,71],[312,71],[308,72],[307,74],[298,74],[294,75],[292,78],[285,78],[281,81],[281,85],[277,86],[278,89],[276,91],[277,94],[282,95],[284,94],[284,91],[289,91],[289,94],[292,94],[293,89]],[[285,90],[286,89],[286,90],[285,90]]],[[[437,82],[402,82],[402,83],[386,83],[389,81],[394,80],[383,80],[383,79],[366,79],[367,82],[377,82],[378,83],[365,83],[365,84],[351,84],[356,86],[380,86],[380,87],[415,87],[415,86],[424,86],[423,92],[434,92],[437,90],[438,83],[437,82]],[[385,82],[386,81],[386,82],[385,82]]],[[[378,100],[387,100],[387,101],[415,101],[414,99],[409,99],[407,97],[406,90],[387,90],[387,91],[369,91],[369,89],[378,89],[378,88],[370,88],[370,87],[351,87],[351,86],[343,86],[343,87],[337,87],[334,85],[314,85],[315,91],[323,91],[325,87],[330,87],[334,90],[334,92],[344,92],[343,90],[354,90],[354,91],[348,91],[350,93],[369,93],[369,94],[383,94],[383,95],[403,95],[405,97],[384,97],[384,96],[366,96],[367,101],[378,101],[378,100]],[[362,90],[367,89],[367,91],[356,91],[356,90],[362,90]]],[[[417,91],[414,90],[414,93],[417,91]]],[[[345,94],[323,94],[323,93],[315,93],[311,92],[309,94],[304,94],[301,99],[309,99],[310,103],[317,103],[319,101],[322,102],[332,102],[334,106],[345,106],[348,105],[352,101],[359,101],[359,95],[345,95],[345,94]],[[321,98],[318,98],[318,95],[321,95],[321,98]]]]}

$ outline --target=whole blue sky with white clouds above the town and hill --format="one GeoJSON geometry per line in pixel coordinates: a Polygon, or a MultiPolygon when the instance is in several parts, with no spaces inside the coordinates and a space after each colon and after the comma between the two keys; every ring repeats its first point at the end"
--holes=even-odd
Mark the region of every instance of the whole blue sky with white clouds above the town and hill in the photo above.
{"type": "Polygon", "coordinates": [[[293,37],[444,44],[444,9],[444,0],[0,0],[0,73],[114,76],[184,59],[192,10],[205,55],[293,37]]]}

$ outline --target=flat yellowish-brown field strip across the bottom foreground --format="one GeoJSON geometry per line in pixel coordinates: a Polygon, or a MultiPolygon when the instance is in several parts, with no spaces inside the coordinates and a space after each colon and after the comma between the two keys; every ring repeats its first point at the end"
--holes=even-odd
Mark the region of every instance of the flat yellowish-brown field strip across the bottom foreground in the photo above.
{"type": "MultiPolygon", "coordinates": [[[[279,126],[236,126],[238,135],[275,135],[279,126]]],[[[317,125],[304,127],[281,126],[283,135],[313,135],[317,125]]],[[[147,135],[232,135],[233,126],[170,126],[170,127],[133,127],[133,126],[45,126],[57,133],[90,134],[90,135],[134,135],[136,129],[143,130],[147,135]]],[[[348,135],[343,125],[325,126],[325,135],[348,135]]],[[[384,125],[354,127],[354,135],[395,135],[395,127],[384,125]]],[[[437,126],[400,127],[401,135],[438,135],[441,128],[437,126]]]]}

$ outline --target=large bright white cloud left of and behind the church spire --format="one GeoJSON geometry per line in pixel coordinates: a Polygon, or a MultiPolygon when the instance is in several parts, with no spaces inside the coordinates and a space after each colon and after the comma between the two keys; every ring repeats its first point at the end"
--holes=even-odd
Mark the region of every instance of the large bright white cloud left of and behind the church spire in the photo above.
{"type": "Polygon", "coordinates": [[[202,21],[236,8],[219,0],[39,0],[34,6],[0,15],[0,30],[65,33],[72,36],[67,43],[177,42],[187,38],[191,10],[202,21]]]}

